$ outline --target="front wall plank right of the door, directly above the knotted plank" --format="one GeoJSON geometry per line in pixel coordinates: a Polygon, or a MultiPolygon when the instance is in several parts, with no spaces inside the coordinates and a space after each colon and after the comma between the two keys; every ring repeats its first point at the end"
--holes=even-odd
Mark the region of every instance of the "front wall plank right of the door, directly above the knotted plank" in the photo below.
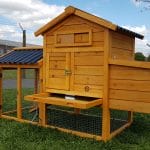
{"type": "Polygon", "coordinates": [[[103,85],[104,76],[75,75],[75,84],[103,85]]]}

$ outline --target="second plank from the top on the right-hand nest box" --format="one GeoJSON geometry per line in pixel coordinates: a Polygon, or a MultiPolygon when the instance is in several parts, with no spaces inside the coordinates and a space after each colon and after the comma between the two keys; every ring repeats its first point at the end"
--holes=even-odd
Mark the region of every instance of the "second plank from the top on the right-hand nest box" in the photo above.
{"type": "Polygon", "coordinates": [[[138,80],[110,80],[111,89],[131,90],[131,91],[147,91],[150,92],[150,81],[138,80]]]}

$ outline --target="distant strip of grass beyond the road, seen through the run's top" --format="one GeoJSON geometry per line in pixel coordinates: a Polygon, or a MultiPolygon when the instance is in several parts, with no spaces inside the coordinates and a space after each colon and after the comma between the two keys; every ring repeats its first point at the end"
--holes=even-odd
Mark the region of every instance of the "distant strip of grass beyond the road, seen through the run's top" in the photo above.
{"type": "MultiPolygon", "coordinates": [[[[25,69],[25,77],[27,79],[34,78],[34,70],[33,69],[25,69]]],[[[16,70],[4,70],[3,71],[3,79],[16,79],[17,71],[16,70]]]]}

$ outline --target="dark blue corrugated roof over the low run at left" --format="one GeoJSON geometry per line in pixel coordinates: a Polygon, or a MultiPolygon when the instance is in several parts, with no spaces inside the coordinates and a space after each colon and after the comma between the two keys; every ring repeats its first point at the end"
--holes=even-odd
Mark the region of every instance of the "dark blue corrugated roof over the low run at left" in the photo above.
{"type": "Polygon", "coordinates": [[[43,50],[13,50],[0,57],[0,64],[35,64],[43,58],[43,50]]]}

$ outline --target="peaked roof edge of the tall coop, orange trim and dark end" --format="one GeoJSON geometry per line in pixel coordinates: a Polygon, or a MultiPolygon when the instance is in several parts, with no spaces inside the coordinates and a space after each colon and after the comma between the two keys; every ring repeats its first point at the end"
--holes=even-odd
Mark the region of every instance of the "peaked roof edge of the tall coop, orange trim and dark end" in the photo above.
{"type": "Polygon", "coordinates": [[[52,21],[48,22],[46,25],[41,27],[39,30],[37,30],[35,32],[35,36],[38,36],[38,35],[41,35],[41,34],[43,35],[47,30],[49,30],[50,28],[52,28],[53,26],[55,26],[59,22],[63,21],[65,18],[67,18],[68,16],[70,16],[72,14],[74,14],[76,16],[79,16],[81,18],[87,19],[91,22],[97,23],[97,24],[99,24],[101,26],[104,26],[108,29],[111,29],[113,31],[121,32],[123,34],[127,34],[127,35],[137,37],[137,38],[140,38],[140,39],[144,38],[143,35],[140,35],[138,33],[135,33],[135,32],[132,32],[130,30],[127,30],[125,28],[122,28],[122,27],[120,27],[116,24],[113,24],[112,22],[110,22],[108,20],[99,18],[99,17],[94,16],[92,14],[89,14],[85,11],[82,11],[78,8],[75,8],[73,6],[68,6],[62,14],[60,14],[58,17],[56,17],[55,19],[53,19],[52,21]]]}

